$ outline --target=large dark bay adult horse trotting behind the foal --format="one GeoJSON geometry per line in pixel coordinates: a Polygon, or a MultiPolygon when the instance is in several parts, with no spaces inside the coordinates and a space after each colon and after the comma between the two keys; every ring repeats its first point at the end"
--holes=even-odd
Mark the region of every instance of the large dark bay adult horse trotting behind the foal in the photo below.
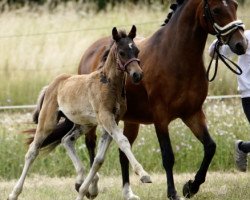
{"type": "MultiPolygon", "coordinates": [[[[204,157],[194,180],[183,186],[184,197],[191,198],[199,191],[215,154],[216,143],[208,132],[202,109],[208,93],[203,52],[208,34],[217,35],[238,55],[246,52],[248,41],[237,20],[237,6],[235,0],[177,0],[177,4],[171,5],[174,12],[168,15],[164,25],[137,43],[144,78],[139,85],[127,80],[124,135],[133,144],[140,124],[154,124],[167,176],[167,196],[171,200],[180,197],[173,177],[175,158],[168,131],[170,122],[180,118],[204,147],[204,157]]],[[[108,37],[102,38],[87,49],[79,74],[96,70],[109,41],[108,37]]],[[[93,133],[88,135],[91,137],[86,138],[86,145],[93,156],[95,138],[93,133]]],[[[124,199],[137,200],[139,197],[129,183],[128,160],[122,151],[120,163],[124,199]]]]}

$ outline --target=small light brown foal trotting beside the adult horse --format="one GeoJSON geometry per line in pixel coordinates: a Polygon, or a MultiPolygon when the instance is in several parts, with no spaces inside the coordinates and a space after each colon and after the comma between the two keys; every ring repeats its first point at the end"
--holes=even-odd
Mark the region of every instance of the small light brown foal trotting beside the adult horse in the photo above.
{"type": "MultiPolygon", "coordinates": [[[[45,87],[38,98],[36,133],[25,155],[22,174],[17,181],[8,200],[16,200],[22,191],[27,172],[37,157],[44,140],[57,127],[61,115],[71,121],[74,126],[63,138],[64,146],[71,158],[75,158],[75,150],[68,140],[75,140],[81,133],[89,132],[98,124],[103,128],[97,155],[88,176],[79,189],[77,200],[83,199],[89,186],[101,167],[106,151],[112,139],[126,154],[136,174],[142,182],[151,182],[141,164],[131,152],[128,139],[118,128],[118,121],[126,112],[125,83],[126,73],[132,73],[133,80],[138,83],[142,78],[142,70],[137,58],[139,50],[133,42],[136,27],[130,33],[112,30],[111,47],[103,66],[84,75],[62,74],[45,87]],[[136,74],[136,75],[135,75],[136,74]]],[[[74,161],[74,160],[73,160],[74,161]]]]}

